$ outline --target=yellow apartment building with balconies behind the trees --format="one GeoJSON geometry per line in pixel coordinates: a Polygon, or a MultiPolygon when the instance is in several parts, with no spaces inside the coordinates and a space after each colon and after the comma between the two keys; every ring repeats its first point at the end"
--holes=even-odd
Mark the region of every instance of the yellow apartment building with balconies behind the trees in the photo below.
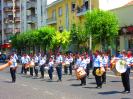
{"type": "Polygon", "coordinates": [[[57,30],[70,30],[72,24],[82,24],[84,14],[99,8],[98,0],[56,0],[47,6],[47,25],[57,30]]]}

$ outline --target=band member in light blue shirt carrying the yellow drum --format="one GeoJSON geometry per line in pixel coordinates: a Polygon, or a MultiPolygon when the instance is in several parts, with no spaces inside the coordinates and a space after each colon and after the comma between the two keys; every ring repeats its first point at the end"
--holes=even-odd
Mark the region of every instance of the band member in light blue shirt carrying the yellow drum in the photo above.
{"type": "Polygon", "coordinates": [[[93,61],[94,61],[93,62],[93,67],[94,67],[93,75],[95,76],[95,80],[96,80],[96,84],[97,84],[96,88],[102,88],[102,81],[101,81],[102,77],[96,75],[96,70],[100,69],[100,67],[102,66],[102,57],[101,57],[99,51],[95,52],[95,56],[94,56],[93,61]]]}

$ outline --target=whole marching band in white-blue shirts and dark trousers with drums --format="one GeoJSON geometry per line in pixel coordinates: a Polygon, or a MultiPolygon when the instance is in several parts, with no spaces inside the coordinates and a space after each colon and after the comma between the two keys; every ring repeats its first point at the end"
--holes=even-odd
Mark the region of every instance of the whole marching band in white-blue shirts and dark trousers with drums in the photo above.
{"type": "MultiPolygon", "coordinates": [[[[103,84],[106,84],[106,71],[112,70],[115,75],[121,76],[124,91],[122,93],[130,93],[130,69],[133,66],[133,56],[131,51],[122,51],[118,56],[112,56],[109,58],[107,52],[96,51],[93,57],[93,71],[92,74],[95,77],[96,88],[102,88],[103,84]]],[[[10,65],[10,73],[12,77],[12,82],[16,81],[16,70],[17,70],[17,55],[13,54],[10,56],[9,60],[12,62],[10,65]]],[[[57,72],[58,82],[62,81],[62,68],[64,68],[64,74],[75,75],[77,80],[81,80],[81,86],[86,85],[86,77],[89,77],[90,73],[90,56],[87,53],[76,55],[69,53],[63,55],[57,53],[57,55],[51,55],[48,59],[46,55],[34,54],[30,56],[28,54],[23,54],[21,57],[21,73],[27,75],[27,71],[30,71],[30,75],[38,77],[38,72],[40,69],[40,78],[44,78],[44,73],[48,70],[48,75],[50,80],[53,80],[54,70],[57,72]],[[48,60],[48,61],[47,61],[48,60]],[[34,73],[33,73],[34,72],[34,73]]],[[[5,67],[3,67],[5,68],[5,67]]],[[[3,69],[2,68],[2,69],[3,69]]],[[[0,70],[2,70],[0,68],[0,70]]]]}

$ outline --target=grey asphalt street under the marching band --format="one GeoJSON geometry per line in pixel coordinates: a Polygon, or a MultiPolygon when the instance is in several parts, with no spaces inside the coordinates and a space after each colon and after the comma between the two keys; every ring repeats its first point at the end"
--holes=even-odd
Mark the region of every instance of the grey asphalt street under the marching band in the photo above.
{"type": "Polygon", "coordinates": [[[107,83],[102,89],[96,89],[92,74],[87,78],[87,85],[80,86],[80,80],[71,75],[63,75],[63,81],[57,82],[56,72],[53,81],[47,73],[44,79],[35,79],[17,71],[16,83],[11,83],[9,68],[0,72],[0,99],[133,99],[133,73],[131,93],[122,94],[123,86],[120,77],[112,72],[107,73],[107,83]]]}

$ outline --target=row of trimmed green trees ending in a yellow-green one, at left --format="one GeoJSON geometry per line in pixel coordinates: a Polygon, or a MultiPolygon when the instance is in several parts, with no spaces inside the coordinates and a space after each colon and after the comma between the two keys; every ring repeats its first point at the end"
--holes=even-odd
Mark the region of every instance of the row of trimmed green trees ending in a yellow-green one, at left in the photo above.
{"type": "Polygon", "coordinates": [[[44,51],[54,49],[56,46],[66,48],[70,42],[70,32],[55,32],[52,27],[41,27],[29,30],[12,38],[12,45],[16,49],[30,49],[41,47],[44,51]]]}

